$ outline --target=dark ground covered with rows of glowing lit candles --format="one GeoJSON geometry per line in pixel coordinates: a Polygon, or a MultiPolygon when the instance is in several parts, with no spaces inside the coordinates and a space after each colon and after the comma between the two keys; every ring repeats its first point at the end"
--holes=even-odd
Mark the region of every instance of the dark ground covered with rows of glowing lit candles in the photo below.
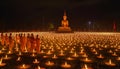
{"type": "Polygon", "coordinates": [[[20,51],[18,44],[9,51],[1,44],[1,69],[120,69],[119,33],[12,32],[12,37],[21,33],[38,34],[40,52],[20,51]]]}

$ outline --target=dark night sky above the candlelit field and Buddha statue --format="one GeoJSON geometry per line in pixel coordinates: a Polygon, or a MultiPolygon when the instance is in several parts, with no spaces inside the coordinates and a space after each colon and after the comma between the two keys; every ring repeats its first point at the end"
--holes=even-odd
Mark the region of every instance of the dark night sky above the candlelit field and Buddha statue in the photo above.
{"type": "Polygon", "coordinates": [[[69,24],[75,30],[119,31],[118,0],[3,0],[0,5],[0,28],[8,30],[46,30],[49,24],[60,26],[66,10],[69,24]]]}

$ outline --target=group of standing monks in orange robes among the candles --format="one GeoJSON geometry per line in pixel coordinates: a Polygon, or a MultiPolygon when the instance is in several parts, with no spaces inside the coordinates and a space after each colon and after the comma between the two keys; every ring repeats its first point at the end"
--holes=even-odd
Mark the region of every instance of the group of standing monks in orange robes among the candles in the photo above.
{"type": "Polygon", "coordinates": [[[15,34],[1,33],[0,44],[13,51],[17,46],[20,51],[40,51],[40,38],[39,35],[34,34],[15,34]]]}

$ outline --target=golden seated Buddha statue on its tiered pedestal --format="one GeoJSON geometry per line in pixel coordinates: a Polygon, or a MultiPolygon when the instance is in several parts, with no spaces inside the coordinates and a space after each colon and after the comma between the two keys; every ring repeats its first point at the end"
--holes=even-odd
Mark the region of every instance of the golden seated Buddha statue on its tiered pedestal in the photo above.
{"type": "Polygon", "coordinates": [[[69,21],[67,20],[66,11],[64,11],[63,20],[61,21],[61,26],[57,29],[58,33],[70,33],[72,32],[71,28],[69,27],[69,21]]]}

